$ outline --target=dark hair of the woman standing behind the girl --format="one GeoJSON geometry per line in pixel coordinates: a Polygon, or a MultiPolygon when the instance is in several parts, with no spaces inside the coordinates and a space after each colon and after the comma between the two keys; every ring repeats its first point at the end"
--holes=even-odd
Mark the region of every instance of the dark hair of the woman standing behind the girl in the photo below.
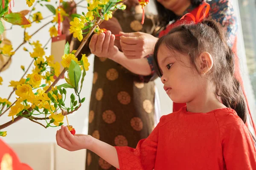
{"type": "MultiPolygon", "coordinates": [[[[190,2],[193,7],[197,7],[200,5],[200,3],[203,2],[203,0],[190,0],[190,2]]],[[[165,27],[166,25],[168,25],[168,23],[170,21],[177,20],[179,17],[181,17],[181,16],[177,16],[173,11],[166,9],[157,0],[155,0],[155,4],[157,7],[157,13],[159,16],[159,21],[160,21],[161,26],[165,27]]]]}

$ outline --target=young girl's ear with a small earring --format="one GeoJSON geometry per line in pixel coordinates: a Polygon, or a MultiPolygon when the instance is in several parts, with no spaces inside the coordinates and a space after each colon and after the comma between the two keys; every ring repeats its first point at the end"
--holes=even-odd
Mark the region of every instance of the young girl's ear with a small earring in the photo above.
{"type": "Polygon", "coordinates": [[[199,71],[201,74],[207,74],[212,69],[213,59],[208,52],[202,52],[198,57],[199,71]]]}

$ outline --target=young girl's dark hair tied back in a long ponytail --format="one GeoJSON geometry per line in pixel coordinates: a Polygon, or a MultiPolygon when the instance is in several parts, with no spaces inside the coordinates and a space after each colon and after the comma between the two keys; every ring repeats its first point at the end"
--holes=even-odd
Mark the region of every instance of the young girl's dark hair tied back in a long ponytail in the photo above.
{"type": "Polygon", "coordinates": [[[204,20],[198,24],[181,25],[161,37],[154,49],[154,67],[160,77],[162,75],[157,62],[157,52],[162,44],[170,51],[188,55],[191,65],[197,71],[196,57],[204,51],[209,52],[213,58],[213,67],[209,76],[216,85],[216,95],[225,106],[233,108],[245,123],[247,108],[241,85],[234,76],[234,53],[227,45],[224,29],[219,23],[214,20],[204,20]]]}

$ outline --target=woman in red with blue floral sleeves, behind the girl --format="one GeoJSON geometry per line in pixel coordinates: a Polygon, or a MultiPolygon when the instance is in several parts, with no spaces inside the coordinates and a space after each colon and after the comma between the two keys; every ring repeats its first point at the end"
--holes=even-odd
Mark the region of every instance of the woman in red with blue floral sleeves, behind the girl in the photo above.
{"type": "MultiPolygon", "coordinates": [[[[236,32],[237,32],[237,23],[236,23],[236,16],[233,11],[233,6],[231,1],[229,0],[211,0],[208,2],[210,5],[209,9],[209,15],[206,17],[217,20],[219,23],[221,23],[222,26],[227,28],[228,32],[228,44],[230,47],[233,48],[233,51],[236,52],[236,32]]],[[[204,16],[204,14],[207,13],[207,7],[208,4],[206,2],[200,2],[199,0],[195,1],[189,1],[189,0],[157,0],[157,11],[160,15],[160,22],[164,25],[166,23],[169,23],[169,21],[173,22],[169,24],[165,30],[160,32],[159,37],[162,37],[163,35],[168,34],[169,30],[173,28],[174,26],[179,25],[183,22],[190,22],[191,17],[185,17],[183,20],[179,20],[181,16],[183,16],[186,13],[191,13],[193,16],[204,16]]],[[[196,17],[198,18],[198,17],[196,17]]],[[[200,18],[200,17],[199,17],[200,18]]],[[[197,20],[198,22],[200,20],[197,20]]],[[[154,50],[154,45],[156,43],[156,39],[152,38],[151,35],[136,32],[136,33],[122,33],[123,36],[120,37],[120,44],[122,47],[122,53],[119,53],[118,56],[107,56],[110,59],[113,59],[114,61],[120,63],[128,70],[136,73],[136,74],[143,74],[143,75],[149,75],[152,74],[153,70],[153,63],[152,63],[152,57],[146,57],[148,59],[148,62],[143,59],[145,56],[148,56],[152,54],[152,51],[154,50]],[[129,61],[129,59],[137,59],[136,61],[129,61]],[[136,63],[140,62],[141,66],[137,67],[134,66],[136,63]],[[151,67],[145,67],[145,65],[150,65],[151,67]],[[146,68],[146,69],[140,69],[140,68],[146,68]],[[150,69],[151,68],[151,69],[150,69]]],[[[103,54],[102,51],[97,51],[96,47],[99,44],[105,43],[105,39],[108,39],[108,36],[105,36],[104,38],[96,38],[93,41],[90,42],[91,44],[91,51],[93,54],[96,54],[97,56],[105,56],[106,54],[103,54]]],[[[111,48],[111,47],[110,47],[111,48]]],[[[236,56],[236,68],[235,68],[235,76],[241,82],[241,76],[239,73],[239,59],[236,56]]],[[[185,104],[177,104],[174,103],[173,111],[178,111],[182,106],[185,104]]],[[[249,110],[249,108],[248,108],[249,110]]],[[[248,117],[250,119],[247,120],[247,126],[250,130],[255,129],[254,123],[250,116],[250,111],[248,112],[248,117]]]]}

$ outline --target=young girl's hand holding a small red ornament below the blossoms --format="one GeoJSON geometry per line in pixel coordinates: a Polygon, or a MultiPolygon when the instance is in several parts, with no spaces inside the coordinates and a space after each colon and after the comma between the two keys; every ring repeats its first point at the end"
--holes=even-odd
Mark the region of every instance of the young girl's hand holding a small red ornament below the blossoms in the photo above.
{"type": "Polygon", "coordinates": [[[90,148],[93,137],[83,134],[76,134],[74,136],[66,126],[61,126],[61,129],[56,133],[56,141],[60,147],[69,151],[75,151],[90,148]]]}

